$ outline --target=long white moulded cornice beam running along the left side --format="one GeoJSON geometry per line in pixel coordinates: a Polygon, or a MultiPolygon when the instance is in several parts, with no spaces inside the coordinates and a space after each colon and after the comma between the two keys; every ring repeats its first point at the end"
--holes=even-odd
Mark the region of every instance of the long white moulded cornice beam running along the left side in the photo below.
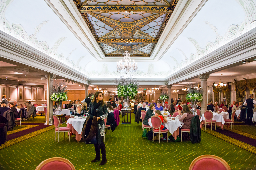
{"type": "Polygon", "coordinates": [[[88,84],[89,77],[42,53],[26,43],[0,31],[0,57],[17,66],[33,68],[43,73],[56,74],[64,79],[88,84]]]}

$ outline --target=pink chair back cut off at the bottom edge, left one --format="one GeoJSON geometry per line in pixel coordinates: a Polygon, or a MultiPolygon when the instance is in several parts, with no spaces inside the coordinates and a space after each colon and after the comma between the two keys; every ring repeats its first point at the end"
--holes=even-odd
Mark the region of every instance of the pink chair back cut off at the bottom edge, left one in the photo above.
{"type": "Polygon", "coordinates": [[[35,170],[76,170],[74,165],[65,158],[49,158],[37,165],[35,170]]]}

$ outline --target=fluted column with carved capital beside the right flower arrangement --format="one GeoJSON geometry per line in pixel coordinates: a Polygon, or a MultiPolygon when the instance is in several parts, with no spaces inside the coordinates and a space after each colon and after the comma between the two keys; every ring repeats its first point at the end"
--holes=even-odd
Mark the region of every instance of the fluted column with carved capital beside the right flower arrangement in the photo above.
{"type": "Polygon", "coordinates": [[[203,95],[203,100],[201,101],[201,115],[207,110],[207,79],[209,74],[199,74],[199,79],[201,80],[201,91],[203,95]]]}

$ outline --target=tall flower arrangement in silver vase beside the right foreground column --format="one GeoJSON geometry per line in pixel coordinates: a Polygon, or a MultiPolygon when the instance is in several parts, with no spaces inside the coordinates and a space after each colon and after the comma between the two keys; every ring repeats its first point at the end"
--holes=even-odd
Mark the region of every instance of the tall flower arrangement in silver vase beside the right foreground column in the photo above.
{"type": "Polygon", "coordinates": [[[198,84],[193,84],[192,82],[187,83],[187,92],[186,92],[186,99],[191,101],[191,111],[196,111],[196,103],[197,101],[201,101],[203,99],[202,90],[198,84]]]}

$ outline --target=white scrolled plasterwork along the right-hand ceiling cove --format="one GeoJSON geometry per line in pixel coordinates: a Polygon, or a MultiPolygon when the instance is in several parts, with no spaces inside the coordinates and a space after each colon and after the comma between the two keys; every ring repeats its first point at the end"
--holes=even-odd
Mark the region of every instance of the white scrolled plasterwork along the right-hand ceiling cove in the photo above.
{"type": "MultiPolygon", "coordinates": [[[[205,24],[209,25],[212,31],[216,34],[216,39],[214,42],[207,42],[205,48],[201,48],[197,41],[192,37],[187,37],[188,40],[195,46],[196,53],[191,53],[189,58],[186,57],[186,54],[181,50],[178,49],[184,56],[185,60],[177,61],[177,59],[173,56],[169,56],[172,58],[175,63],[176,67],[171,67],[170,65],[170,72],[171,74],[175,73],[176,71],[188,66],[189,64],[193,63],[194,61],[204,57],[205,55],[211,53],[212,51],[218,49],[219,47],[227,44],[228,42],[234,40],[235,38],[239,37],[240,35],[246,33],[247,31],[256,27],[256,2],[254,0],[235,0],[238,4],[243,8],[246,17],[240,25],[230,25],[227,28],[227,32],[224,35],[220,35],[218,33],[218,29],[210,24],[208,21],[203,21],[205,24]]],[[[168,63],[167,63],[168,64],[168,63]]]]}

